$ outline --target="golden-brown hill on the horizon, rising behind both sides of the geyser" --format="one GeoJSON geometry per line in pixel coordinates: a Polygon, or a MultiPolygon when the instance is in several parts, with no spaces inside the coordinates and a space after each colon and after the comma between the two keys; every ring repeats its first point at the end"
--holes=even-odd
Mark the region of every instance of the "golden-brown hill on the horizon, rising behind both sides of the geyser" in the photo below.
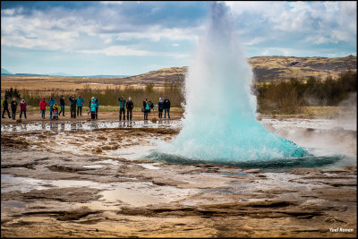
{"type": "MultiPolygon", "coordinates": [[[[294,57],[294,56],[255,56],[248,59],[255,81],[283,81],[292,77],[307,80],[310,76],[319,76],[324,80],[328,75],[337,78],[339,73],[357,70],[357,56],[345,57],[294,57]]],[[[188,66],[164,68],[158,71],[127,77],[138,84],[165,81],[176,82],[184,79],[188,66]]]]}

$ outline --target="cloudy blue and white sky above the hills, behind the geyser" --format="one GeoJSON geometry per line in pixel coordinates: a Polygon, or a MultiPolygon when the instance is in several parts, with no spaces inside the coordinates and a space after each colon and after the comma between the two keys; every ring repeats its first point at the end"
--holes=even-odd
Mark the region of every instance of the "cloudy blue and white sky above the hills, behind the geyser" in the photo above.
{"type": "MultiPolygon", "coordinates": [[[[11,73],[147,73],[189,65],[211,2],[1,2],[11,73]]],[[[356,55],[356,2],[227,2],[247,57],[356,55]]]]}

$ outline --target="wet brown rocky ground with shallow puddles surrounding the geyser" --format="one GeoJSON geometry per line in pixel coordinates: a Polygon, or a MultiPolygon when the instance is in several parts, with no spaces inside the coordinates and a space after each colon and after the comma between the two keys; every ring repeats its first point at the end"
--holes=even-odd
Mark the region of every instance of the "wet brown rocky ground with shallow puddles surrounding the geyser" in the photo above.
{"type": "Polygon", "coordinates": [[[345,159],[285,173],[178,165],[145,157],[178,121],[2,124],[2,236],[355,237],[356,132],[287,121],[262,124],[345,159]]]}

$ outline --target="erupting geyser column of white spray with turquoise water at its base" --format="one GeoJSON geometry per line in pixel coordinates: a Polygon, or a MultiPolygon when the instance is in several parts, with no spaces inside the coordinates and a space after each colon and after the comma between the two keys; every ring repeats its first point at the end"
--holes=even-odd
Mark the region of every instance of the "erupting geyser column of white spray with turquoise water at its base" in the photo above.
{"type": "Polygon", "coordinates": [[[183,129],[174,141],[159,142],[158,152],[220,162],[308,155],[256,120],[251,67],[232,24],[225,4],[211,5],[207,33],[185,78],[183,129]]]}

